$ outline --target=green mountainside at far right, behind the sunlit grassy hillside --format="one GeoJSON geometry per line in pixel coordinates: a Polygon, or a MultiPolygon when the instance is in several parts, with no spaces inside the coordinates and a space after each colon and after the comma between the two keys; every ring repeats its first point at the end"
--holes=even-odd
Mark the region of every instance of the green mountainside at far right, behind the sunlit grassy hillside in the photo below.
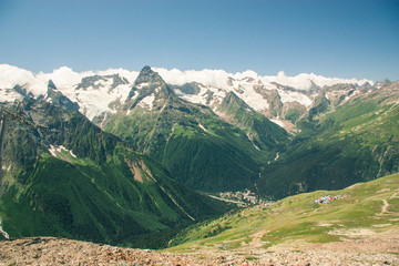
{"type": "Polygon", "coordinates": [[[265,166],[259,191],[276,198],[338,190],[399,171],[398,84],[352,98],[330,112],[303,120],[276,162],[265,166]]]}

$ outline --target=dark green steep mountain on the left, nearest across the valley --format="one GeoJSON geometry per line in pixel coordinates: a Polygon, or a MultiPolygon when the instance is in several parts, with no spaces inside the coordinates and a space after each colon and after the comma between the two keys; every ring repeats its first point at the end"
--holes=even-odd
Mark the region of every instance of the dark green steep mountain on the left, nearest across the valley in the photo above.
{"type": "Polygon", "coordinates": [[[6,137],[0,217],[11,237],[158,247],[178,227],[229,208],[78,112],[45,102],[27,112],[37,126],[14,123],[6,137]]]}

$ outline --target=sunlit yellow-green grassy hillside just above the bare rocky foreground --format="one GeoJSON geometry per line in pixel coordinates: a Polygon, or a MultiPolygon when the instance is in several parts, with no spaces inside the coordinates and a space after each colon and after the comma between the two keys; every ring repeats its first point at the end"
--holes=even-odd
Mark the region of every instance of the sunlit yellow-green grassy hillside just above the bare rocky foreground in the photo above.
{"type": "Polygon", "coordinates": [[[177,246],[168,250],[222,247],[249,255],[253,248],[273,250],[284,245],[295,249],[398,229],[399,174],[395,174],[342,191],[317,191],[269,206],[233,211],[188,227],[171,242],[177,246]]]}

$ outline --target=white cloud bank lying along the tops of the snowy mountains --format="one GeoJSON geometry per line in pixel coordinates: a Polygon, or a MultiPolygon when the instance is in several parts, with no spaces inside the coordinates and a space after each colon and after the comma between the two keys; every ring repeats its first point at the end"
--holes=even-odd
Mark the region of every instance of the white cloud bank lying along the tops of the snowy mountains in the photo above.
{"type": "MultiPolygon", "coordinates": [[[[166,83],[183,85],[184,83],[198,82],[204,85],[214,88],[224,88],[227,85],[229,79],[242,80],[245,78],[252,78],[259,80],[266,88],[272,82],[279,83],[282,85],[293,86],[298,90],[308,90],[313,83],[319,86],[334,85],[337,83],[351,83],[362,85],[366,82],[374,84],[371,80],[357,80],[357,79],[339,79],[339,78],[326,78],[314,73],[301,73],[298,75],[289,76],[280,71],[277,75],[258,75],[252,70],[237,73],[228,73],[224,70],[177,70],[177,69],[164,69],[153,68],[166,81],[166,83]]],[[[79,84],[84,76],[91,75],[110,75],[120,74],[121,76],[133,83],[137,78],[140,71],[129,71],[124,69],[108,69],[103,71],[84,71],[75,72],[69,66],[61,66],[55,69],[52,73],[39,72],[34,74],[31,71],[20,69],[14,65],[0,64],[0,88],[13,88],[17,84],[27,84],[30,89],[38,94],[44,94],[47,91],[48,81],[52,80],[58,88],[70,88],[79,84]]],[[[275,88],[275,86],[273,86],[275,88]]]]}

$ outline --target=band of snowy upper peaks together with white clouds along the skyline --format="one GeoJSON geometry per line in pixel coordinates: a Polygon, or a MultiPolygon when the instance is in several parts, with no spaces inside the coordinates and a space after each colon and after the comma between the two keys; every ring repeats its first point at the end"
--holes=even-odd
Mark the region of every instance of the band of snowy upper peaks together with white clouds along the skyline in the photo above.
{"type": "MultiPolygon", "coordinates": [[[[79,111],[90,120],[116,112],[126,101],[134,101],[133,105],[142,102],[143,106],[151,109],[162,98],[176,96],[174,91],[187,101],[206,104],[213,110],[227,93],[234,92],[253,110],[276,117],[269,112],[276,106],[278,112],[282,112],[283,105],[310,108],[314,103],[311,93],[320,88],[344,83],[360,90],[375,84],[366,79],[326,78],[314,73],[289,76],[284,71],[276,75],[259,75],[252,70],[228,73],[211,69],[181,71],[145,66],[141,72],[124,69],[75,72],[69,66],[61,66],[51,73],[34,74],[18,66],[0,64],[0,101],[13,101],[25,95],[44,96],[49,81],[57,85],[60,95],[79,104],[79,111]]],[[[337,90],[331,93],[339,96],[342,92],[337,90]]]]}

